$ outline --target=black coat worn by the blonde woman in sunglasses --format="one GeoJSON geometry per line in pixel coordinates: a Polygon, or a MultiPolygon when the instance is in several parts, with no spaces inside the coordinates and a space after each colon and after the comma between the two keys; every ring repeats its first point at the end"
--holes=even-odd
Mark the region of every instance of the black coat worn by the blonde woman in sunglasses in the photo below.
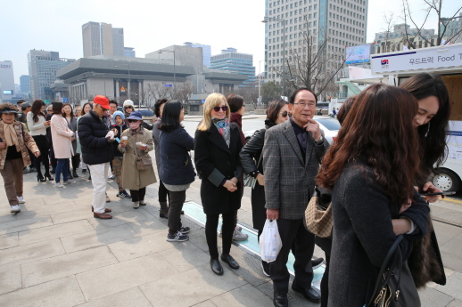
{"type": "Polygon", "coordinates": [[[215,125],[209,130],[196,130],[194,162],[202,179],[201,199],[205,214],[227,214],[241,207],[241,184],[229,192],[220,183],[223,179],[241,178],[243,168],[239,153],[243,148],[241,134],[235,124],[230,125],[229,148],[215,125]]]}

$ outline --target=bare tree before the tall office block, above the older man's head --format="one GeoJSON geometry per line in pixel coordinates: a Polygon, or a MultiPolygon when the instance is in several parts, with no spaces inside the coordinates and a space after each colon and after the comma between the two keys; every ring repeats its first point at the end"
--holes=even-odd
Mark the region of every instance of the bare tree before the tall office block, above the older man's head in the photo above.
{"type": "MultiPolygon", "coordinates": [[[[327,29],[322,32],[307,30],[306,20],[304,29],[298,34],[299,44],[291,47],[286,56],[285,93],[306,87],[320,96],[328,85],[332,85],[332,81],[342,77],[345,54],[343,48],[335,52],[334,47],[328,44],[332,38],[328,36],[327,29]],[[320,41],[318,37],[321,37],[320,41]]],[[[280,76],[284,73],[282,67],[273,67],[273,70],[280,76]]]]}

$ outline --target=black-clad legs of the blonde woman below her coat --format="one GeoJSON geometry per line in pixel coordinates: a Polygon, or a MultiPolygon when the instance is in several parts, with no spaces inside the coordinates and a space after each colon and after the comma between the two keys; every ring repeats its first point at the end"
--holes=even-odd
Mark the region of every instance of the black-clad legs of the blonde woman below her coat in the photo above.
{"type": "MultiPolygon", "coordinates": [[[[231,244],[233,243],[233,231],[235,230],[235,211],[223,216],[222,227],[222,241],[223,250],[222,254],[229,254],[231,251],[231,244]]],[[[219,227],[219,214],[207,214],[205,222],[205,238],[207,238],[207,245],[209,246],[210,258],[219,257],[219,248],[217,247],[217,229],[219,227]]]]}

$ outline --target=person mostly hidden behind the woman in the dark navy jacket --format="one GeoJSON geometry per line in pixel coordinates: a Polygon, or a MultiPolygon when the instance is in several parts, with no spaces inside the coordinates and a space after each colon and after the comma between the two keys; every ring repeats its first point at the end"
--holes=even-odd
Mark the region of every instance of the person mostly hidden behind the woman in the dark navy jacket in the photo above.
{"type": "MultiPolygon", "coordinates": [[[[167,98],[162,98],[154,104],[154,115],[157,117],[157,121],[153,125],[153,142],[157,174],[160,174],[161,172],[161,130],[159,130],[159,126],[162,122],[163,108],[165,107],[165,103],[168,101],[169,100],[167,98]]],[[[161,177],[159,177],[159,190],[157,195],[159,198],[159,205],[161,206],[161,210],[159,210],[159,217],[166,219],[169,217],[169,203],[167,202],[167,198],[169,198],[169,190],[165,188],[161,177]]]]}

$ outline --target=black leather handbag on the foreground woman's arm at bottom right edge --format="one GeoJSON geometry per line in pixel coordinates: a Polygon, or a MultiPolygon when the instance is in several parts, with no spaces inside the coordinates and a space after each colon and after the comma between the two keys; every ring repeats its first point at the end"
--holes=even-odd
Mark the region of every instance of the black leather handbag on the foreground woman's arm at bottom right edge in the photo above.
{"type": "Polygon", "coordinates": [[[400,235],[385,257],[367,307],[420,307],[417,287],[410,274],[408,262],[402,259],[400,235]]]}

